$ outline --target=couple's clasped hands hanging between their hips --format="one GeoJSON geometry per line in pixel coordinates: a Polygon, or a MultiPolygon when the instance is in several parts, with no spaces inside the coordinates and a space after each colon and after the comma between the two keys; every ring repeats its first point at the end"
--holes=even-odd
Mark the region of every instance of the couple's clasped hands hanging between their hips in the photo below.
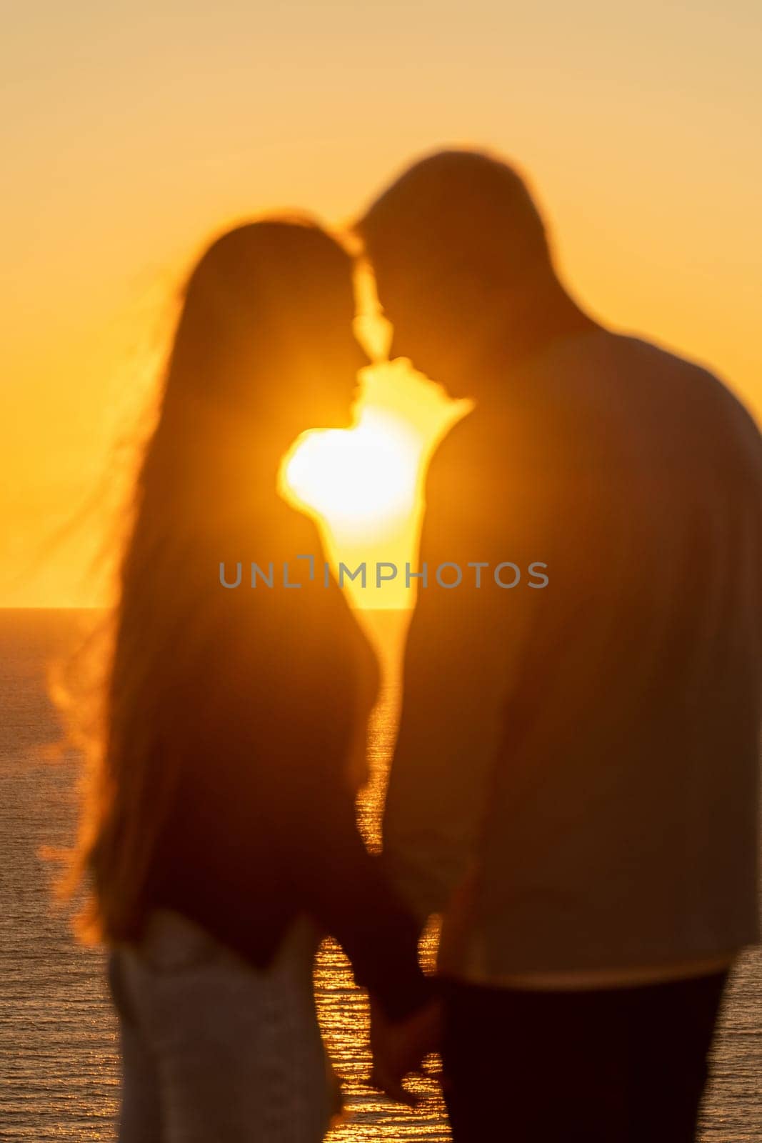
{"type": "Polygon", "coordinates": [[[370,999],[370,1047],[374,1066],[370,1082],[392,1100],[415,1108],[418,1097],[406,1092],[402,1080],[410,1072],[420,1071],[424,1056],[436,1052],[441,1039],[442,1014],[439,1001],[433,1001],[407,1020],[390,1021],[382,1008],[370,999]]]}

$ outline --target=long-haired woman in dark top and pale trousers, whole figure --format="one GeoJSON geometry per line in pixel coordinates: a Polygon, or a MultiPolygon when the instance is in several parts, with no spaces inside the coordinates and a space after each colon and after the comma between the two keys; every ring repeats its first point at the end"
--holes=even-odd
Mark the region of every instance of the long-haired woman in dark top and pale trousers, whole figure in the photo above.
{"type": "Polygon", "coordinates": [[[322,933],[387,1020],[426,1010],[417,926],[354,816],[376,662],[332,581],[306,561],[303,586],[281,575],[298,554],[321,566],[278,472],[305,426],[350,421],[353,315],[351,258],[308,221],[226,233],[186,287],[80,842],[87,919],[112,948],[122,1143],[322,1138],[322,933]],[[272,563],[272,589],[226,589],[219,566],[239,561],[272,563]]]}

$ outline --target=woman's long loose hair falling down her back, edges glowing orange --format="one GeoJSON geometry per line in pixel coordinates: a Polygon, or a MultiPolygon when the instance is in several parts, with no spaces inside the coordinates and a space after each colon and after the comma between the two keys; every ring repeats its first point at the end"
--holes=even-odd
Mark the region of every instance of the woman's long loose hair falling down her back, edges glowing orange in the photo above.
{"type": "Polygon", "coordinates": [[[250,526],[252,449],[273,419],[288,423],[289,377],[310,367],[321,291],[340,282],[348,297],[351,275],[334,238],[288,217],[228,231],[187,279],[131,496],[97,711],[79,743],[87,766],[66,892],[85,885],[83,940],[139,935],[182,767],[183,681],[214,639],[210,569],[250,526]]]}

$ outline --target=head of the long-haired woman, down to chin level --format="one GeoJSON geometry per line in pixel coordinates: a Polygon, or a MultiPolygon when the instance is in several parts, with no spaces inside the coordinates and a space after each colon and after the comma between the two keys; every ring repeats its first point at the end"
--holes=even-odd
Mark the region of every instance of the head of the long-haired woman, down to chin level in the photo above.
{"type": "Polygon", "coordinates": [[[209,458],[242,446],[270,463],[304,429],[348,424],[368,363],[354,313],[352,258],[315,223],[227,231],[189,278],[158,432],[175,453],[189,433],[209,458]]]}

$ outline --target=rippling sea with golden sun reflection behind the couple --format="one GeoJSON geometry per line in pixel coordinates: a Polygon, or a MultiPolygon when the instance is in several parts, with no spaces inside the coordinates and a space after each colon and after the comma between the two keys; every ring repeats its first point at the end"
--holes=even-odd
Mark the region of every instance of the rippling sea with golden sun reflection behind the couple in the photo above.
{"type": "MultiPolygon", "coordinates": [[[[80,759],[51,749],[62,727],[49,698],[51,663],[93,622],[86,613],[0,610],[0,1140],[86,1143],[115,1138],[119,1057],[104,989],[104,958],[72,937],[51,894],[56,868],[46,848],[65,848],[75,829],[80,759]]],[[[371,727],[372,780],[362,808],[371,844],[399,710],[404,617],[364,616],[385,656],[371,727]]],[[[342,1077],[348,1118],[331,1143],[449,1138],[432,1078],[416,1081],[408,1111],[367,1084],[368,1010],[340,949],[326,942],[315,967],[320,1021],[342,1077]]],[[[548,1077],[552,1086],[552,1078],[548,1077]]],[[[538,1109],[542,1114],[542,1109],[538,1109]]],[[[504,1130],[511,1140],[506,1098],[504,1130]]],[[[738,962],[725,997],[699,1132],[701,1143],[762,1140],[762,952],[738,962]]],[[[559,1143],[563,1143],[559,1140],[559,1143]]],[[[645,1141],[644,1141],[645,1143],[645,1141]]]]}

